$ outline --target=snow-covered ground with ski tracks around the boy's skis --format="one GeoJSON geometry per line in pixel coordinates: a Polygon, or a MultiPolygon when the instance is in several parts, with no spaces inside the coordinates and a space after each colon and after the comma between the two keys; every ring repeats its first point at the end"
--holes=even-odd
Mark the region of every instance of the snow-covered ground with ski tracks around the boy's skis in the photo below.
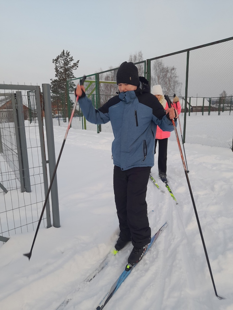
{"type": "MultiPolygon", "coordinates": [[[[56,156],[65,131],[54,126],[56,156]]],[[[110,132],[70,129],[57,170],[61,227],[39,229],[30,261],[22,254],[30,251],[35,232],[0,242],[1,310],[56,310],[66,298],[71,300],[65,310],[94,310],[125,268],[131,244],[84,282],[119,233],[112,139],[110,132]]],[[[106,310],[233,309],[233,152],[188,143],[185,152],[217,294],[225,299],[215,296],[177,142],[169,140],[167,177],[179,204],[164,184],[158,181],[162,193],[149,181],[152,233],[166,221],[168,226],[106,310]]],[[[157,156],[152,174],[158,180],[157,156]]],[[[11,191],[12,199],[19,194],[11,191]]]]}

